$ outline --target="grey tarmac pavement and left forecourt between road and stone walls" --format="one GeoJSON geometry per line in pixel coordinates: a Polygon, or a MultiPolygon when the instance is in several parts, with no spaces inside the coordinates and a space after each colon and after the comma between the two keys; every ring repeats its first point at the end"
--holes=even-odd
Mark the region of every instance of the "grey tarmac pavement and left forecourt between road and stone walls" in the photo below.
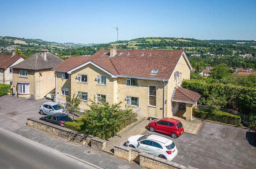
{"type": "MultiPolygon", "coordinates": [[[[27,126],[27,117],[40,118],[42,116],[38,113],[39,107],[46,101],[51,100],[19,99],[10,95],[0,97],[0,128],[101,168],[143,168],[134,162],[128,162],[106,152],[92,149],[88,145],[70,143],[66,139],[27,126]]],[[[3,137],[1,133],[0,137],[3,137]]],[[[22,153],[22,150],[19,153],[22,153]]],[[[34,151],[31,151],[31,153],[33,154],[34,151]]],[[[0,168],[4,168],[1,162],[0,168]]]]}

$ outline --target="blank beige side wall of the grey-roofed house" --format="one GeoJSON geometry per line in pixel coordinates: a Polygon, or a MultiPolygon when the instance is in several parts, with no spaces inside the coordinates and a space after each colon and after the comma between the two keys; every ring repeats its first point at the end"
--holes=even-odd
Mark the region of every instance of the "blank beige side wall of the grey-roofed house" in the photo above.
{"type": "Polygon", "coordinates": [[[55,75],[50,69],[35,71],[35,99],[44,98],[55,88],[55,75]],[[39,71],[43,71],[40,75],[39,71]]]}

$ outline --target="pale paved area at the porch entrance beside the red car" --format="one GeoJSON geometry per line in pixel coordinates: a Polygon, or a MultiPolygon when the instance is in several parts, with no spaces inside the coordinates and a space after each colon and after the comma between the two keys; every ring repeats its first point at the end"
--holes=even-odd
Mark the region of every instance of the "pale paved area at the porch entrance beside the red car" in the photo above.
{"type": "Polygon", "coordinates": [[[179,120],[184,128],[185,133],[197,135],[204,121],[192,117],[192,120],[186,120],[186,110],[179,110],[172,118],[179,120]]]}

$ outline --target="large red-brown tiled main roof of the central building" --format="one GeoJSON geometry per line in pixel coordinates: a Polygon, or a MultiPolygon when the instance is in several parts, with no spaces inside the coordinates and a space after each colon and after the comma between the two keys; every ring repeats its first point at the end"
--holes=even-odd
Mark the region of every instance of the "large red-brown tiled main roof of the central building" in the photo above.
{"type": "Polygon", "coordinates": [[[71,56],[52,70],[69,71],[91,61],[114,75],[169,79],[182,53],[183,50],[119,49],[111,57],[109,49],[100,49],[92,56],[71,56]],[[120,52],[124,53],[118,55],[120,52]],[[159,70],[157,74],[150,74],[153,69],[159,70]]]}

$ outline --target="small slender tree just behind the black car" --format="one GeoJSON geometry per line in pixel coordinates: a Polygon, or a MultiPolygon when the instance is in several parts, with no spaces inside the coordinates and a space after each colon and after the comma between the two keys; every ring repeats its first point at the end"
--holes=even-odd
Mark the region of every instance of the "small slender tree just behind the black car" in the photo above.
{"type": "Polygon", "coordinates": [[[75,96],[75,93],[73,94],[73,97],[68,97],[68,103],[66,103],[64,111],[73,114],[73,120],[74,120],[74,113],[80,113],[79,105],[81,103],[81,97],[77,94],[75,96]]]}

